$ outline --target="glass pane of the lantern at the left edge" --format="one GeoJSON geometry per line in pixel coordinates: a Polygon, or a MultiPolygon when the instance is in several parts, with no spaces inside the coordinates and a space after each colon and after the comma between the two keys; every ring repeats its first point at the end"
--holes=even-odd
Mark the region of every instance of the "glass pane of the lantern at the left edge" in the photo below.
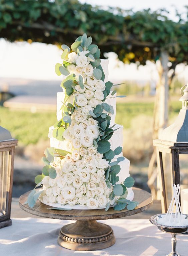
{"type": "Polygon", "coordinates": [[[6,214],[8,192],[10,189],[11,155],[9,151],[0,152],[0,216],[6,214]]]}

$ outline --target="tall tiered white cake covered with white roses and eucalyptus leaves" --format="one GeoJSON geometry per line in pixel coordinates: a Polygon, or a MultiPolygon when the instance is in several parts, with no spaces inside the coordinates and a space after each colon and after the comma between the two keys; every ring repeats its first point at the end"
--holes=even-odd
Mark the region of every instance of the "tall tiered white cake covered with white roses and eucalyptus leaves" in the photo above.
{"type": "Polygon", "coordinates": [[[35,178],[36,187],[43,189],[31,191],[30,207],[38,198],[57,209],[133,210],[138,204],[130,201],[134,179],[129,177],[129,160],[122,156],[122,127],[114,123],[115,97],[123,96],[111,90],[108,61],[100,59],[98,46],[91,43],[84,34],[71,49],[62,45],[63,63],[55,67],[63,75],[58,121],[49,131],[51,147],[45,150],[42,174],[35,178]],[[123,172],[126,178],[120,180],[123,172]]]}

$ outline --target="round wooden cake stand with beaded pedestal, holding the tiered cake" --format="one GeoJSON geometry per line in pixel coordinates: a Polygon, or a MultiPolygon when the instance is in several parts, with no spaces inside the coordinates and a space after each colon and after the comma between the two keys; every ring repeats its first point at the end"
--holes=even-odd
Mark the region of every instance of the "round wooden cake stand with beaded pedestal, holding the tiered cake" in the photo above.
{"type": "Polygon", "coordinates": [[[98,210],[49,210],[47,206],[37,200],[33,208],[24,205],[30,193],[27,192],[19,198],[19,206],[27,213],[40,217],[75,220],[75,223],[63,226],[59,231],[58,244],[62,247],[78,251],[100,250],[112,246],[115,243],[115,236],[110,226],[99,223],[96,220],[107,220],[134,215],[147,210],[153,204],[151,194],[139,188],[133,188],[134,200],[139,202],[136,209],[132,211],[115,211],[109,208],[98,210]]]}

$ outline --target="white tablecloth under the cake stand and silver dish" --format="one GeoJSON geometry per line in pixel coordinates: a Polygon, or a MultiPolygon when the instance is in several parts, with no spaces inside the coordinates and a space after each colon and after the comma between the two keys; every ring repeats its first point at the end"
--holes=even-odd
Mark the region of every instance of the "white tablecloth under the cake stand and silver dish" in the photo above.
{"type": "MultiPolygon", "coordinates": [[[[171,252],[171,235],[149,220],[115,219],[100,221],[110,225],[116,243],[100,251],[71,251],[57,244],[59,229],[73,221],[13,218],[12,226],[0,229],[1,256],[165,256],[171,252]]],[[[177,252],[188,255],[188,235],[177,236],[177,252]]]]}

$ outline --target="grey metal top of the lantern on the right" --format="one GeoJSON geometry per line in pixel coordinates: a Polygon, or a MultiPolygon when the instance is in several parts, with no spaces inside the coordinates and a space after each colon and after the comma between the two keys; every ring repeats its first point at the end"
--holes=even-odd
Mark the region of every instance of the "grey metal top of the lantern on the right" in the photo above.
{"type": "Polygon", "coordinates": [[[188,84],[181,88],[180,93],[182,95],[180,98],[182,109],[175,122],[161,132],[160,140],[188,143],[188,84]]]}

